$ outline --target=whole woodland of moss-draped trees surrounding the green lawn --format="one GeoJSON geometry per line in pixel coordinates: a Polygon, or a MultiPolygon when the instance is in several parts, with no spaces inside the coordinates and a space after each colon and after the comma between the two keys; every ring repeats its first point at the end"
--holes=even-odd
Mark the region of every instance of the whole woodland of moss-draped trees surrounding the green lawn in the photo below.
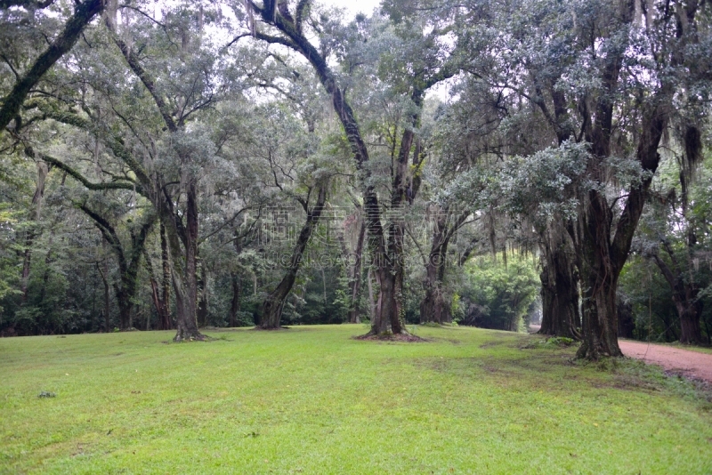
{"type": "Polygon", "coordinates": [[[706,0],[0,0],[0,334],[712,342],[706,0]]]}

